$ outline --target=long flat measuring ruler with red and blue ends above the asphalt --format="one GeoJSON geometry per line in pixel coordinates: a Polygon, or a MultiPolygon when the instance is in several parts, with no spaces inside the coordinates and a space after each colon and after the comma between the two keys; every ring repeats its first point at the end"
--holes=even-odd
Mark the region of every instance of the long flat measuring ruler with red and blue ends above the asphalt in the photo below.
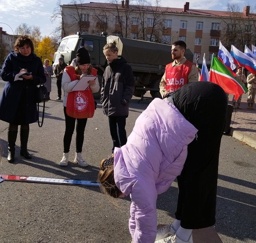
{"type": "Polygon", "coordinates": [[[97,181],[84,181],[84,180],[72,180],[72,179],[58,179],[58,178],[46,178],[46,177],[34,177],[34,176],[22,176],[22,175],[0,175],[0,183],[3,181],[15,181],[15,182],[31,182],[31,183],[43,183],[43,184],[58,184],[58,185],[83,185],[98,187],[100,184],[97,181]]]}

